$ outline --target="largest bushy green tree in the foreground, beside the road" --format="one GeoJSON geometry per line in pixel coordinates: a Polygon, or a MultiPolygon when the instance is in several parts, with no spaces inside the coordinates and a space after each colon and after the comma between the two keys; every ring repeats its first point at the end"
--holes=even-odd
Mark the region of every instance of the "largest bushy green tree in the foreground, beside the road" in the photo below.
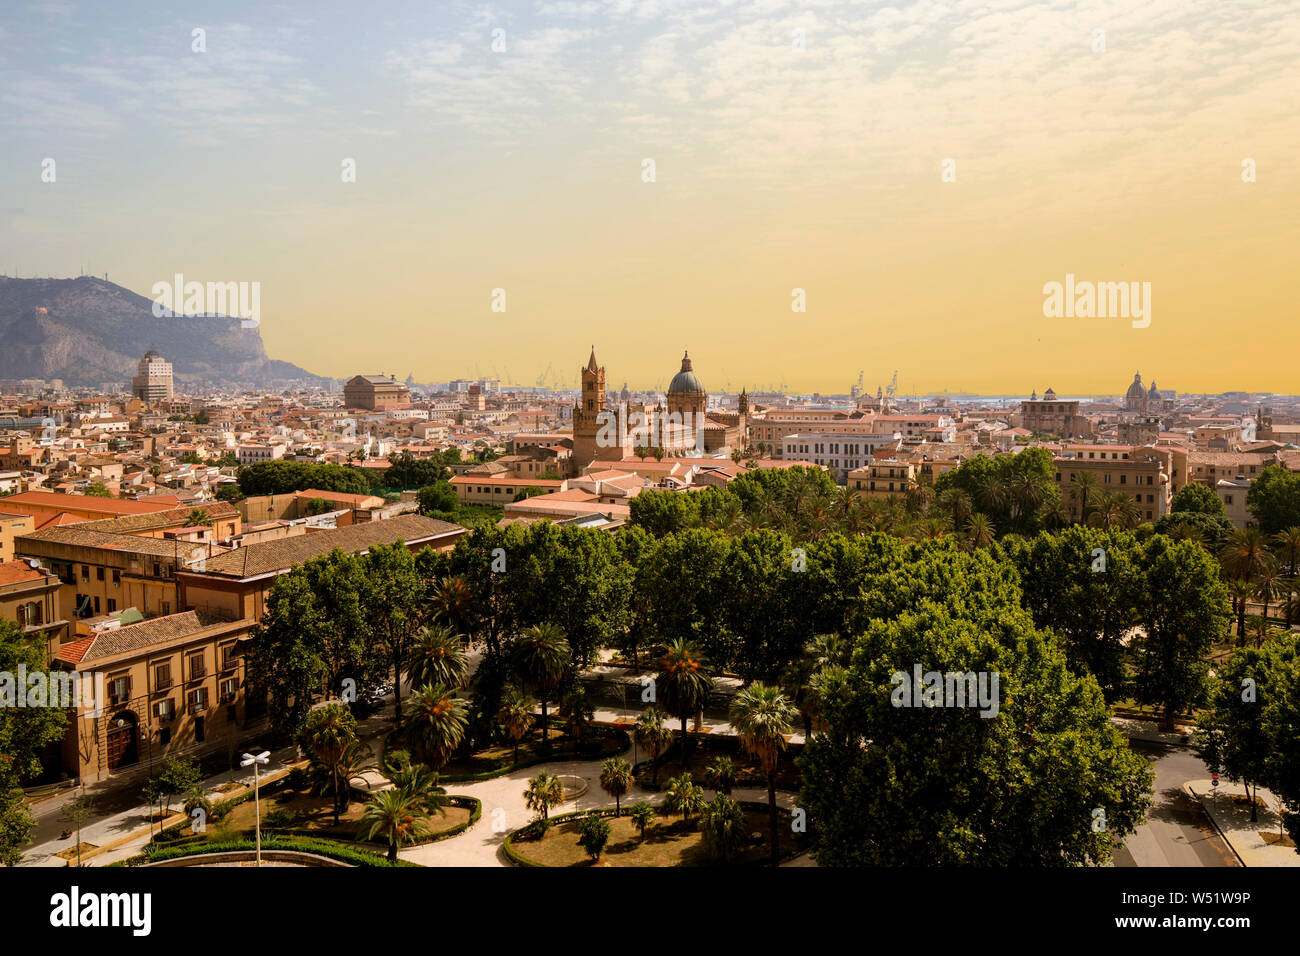
{"type": "Polygon", "coordinates": [[[828,669],[826,730],[796,758],[818,862],[1106,861],[1150,801],[1145,758],[1020,607],[1013,567],[991,550],[907,548],[862,581],[853,662],[828,669]]]}

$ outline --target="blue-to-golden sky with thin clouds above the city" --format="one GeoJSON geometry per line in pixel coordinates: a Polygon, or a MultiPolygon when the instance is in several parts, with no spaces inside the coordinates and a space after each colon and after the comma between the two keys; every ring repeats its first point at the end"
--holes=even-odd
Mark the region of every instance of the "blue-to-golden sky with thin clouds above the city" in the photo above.
{"type": "Polygon", "coordinates": [[[0,272],[334,377],[1300,392],[1294,0],[172,7],[6,4],[0,272]]]}

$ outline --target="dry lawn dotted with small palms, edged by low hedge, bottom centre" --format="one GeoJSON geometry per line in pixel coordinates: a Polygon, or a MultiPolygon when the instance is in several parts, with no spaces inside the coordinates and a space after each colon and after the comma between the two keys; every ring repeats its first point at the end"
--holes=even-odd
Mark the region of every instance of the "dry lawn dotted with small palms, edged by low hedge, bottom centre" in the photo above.
{"type": "MultiPolygon", "coordinates": [[[[768,823],[763,810],[745,810],[750,834],[757,834],[750,844],[741,851],[731,864],[762,862],[767,860],[768,823]]],[[[642,842],[640,832],[627,814],[607,817],[610,842],[601,855],[602,866],[722,866],[720,860],[708,855],[697,821],[682,823],[681,817],[668,817],[646,827],[642,842]]],[[[514,849],[521,857],[545,866],[592,866],[586,851],[578,845],[581,819],[566,819],[551,826],[540,840],[514,842],[514,849]]],[[[796,851],[794,834],[790,832],[789,817],[783,814],[777,832],[781,840],[781,855],[796,851]]]]}

